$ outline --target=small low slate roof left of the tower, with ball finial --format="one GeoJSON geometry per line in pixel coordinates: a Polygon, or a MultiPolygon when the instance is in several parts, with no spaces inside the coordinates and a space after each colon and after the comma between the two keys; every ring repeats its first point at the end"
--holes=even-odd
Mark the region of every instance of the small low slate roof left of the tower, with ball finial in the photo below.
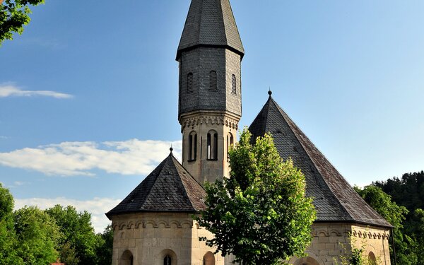
{"type": "Polygon", "coordinates": [[[196,212],[206,192],[170,153],[107,217],[136,212],[196,212]]]}

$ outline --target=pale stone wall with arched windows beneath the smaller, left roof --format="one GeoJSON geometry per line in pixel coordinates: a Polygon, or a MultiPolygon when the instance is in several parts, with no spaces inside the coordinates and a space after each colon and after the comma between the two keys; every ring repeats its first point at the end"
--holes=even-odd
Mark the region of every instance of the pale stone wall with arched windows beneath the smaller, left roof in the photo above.
{"type": "Polygon", "coordinates": [[[130,265],[131,259],[133,265],[163,265],[166,256],[172,265],[202,265],[205,256],[223,265],[223,257],[199,241],[211,233],[199,228],[191,213],[126,214],[112,217],[112,226],[112,265],[130,265]]]}

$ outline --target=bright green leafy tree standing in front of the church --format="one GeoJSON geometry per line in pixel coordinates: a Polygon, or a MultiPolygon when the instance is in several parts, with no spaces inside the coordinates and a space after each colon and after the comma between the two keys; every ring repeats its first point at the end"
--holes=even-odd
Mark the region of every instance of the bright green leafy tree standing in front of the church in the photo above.
{"type": "Polygon", "coordinates": [[[305,176],[283,161],[271,136],[251,144],[245,129],[230,155],[230,179],[206,183],[205,211],[196,217],[214,238],[206,240],[242,264],[278,264],[302,256],[315,220],[305,176]]]}

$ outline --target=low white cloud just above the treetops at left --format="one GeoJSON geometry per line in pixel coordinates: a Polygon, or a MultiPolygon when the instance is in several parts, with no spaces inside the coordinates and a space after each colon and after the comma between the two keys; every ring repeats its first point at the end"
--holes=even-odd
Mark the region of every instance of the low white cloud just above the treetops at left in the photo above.
{"type": "Polygon", "coordinates": [[[15,199],[15,209],[23,208],[23,206],[37,206],[41,209],[51,208],[56,204],[61,206],[74,206],[78,212],[88,211],[91,213],[91,221],[95,232],[103,232],[110,220],[107,219],[105,213],[110,211],[114,206],[117,206],[121,199],[110,198],[94,198],[92,200],[80,201],[76,199],[67,199],[58,197],[54,199],[47,198],[30,198],[30,199],[15,199]]]}

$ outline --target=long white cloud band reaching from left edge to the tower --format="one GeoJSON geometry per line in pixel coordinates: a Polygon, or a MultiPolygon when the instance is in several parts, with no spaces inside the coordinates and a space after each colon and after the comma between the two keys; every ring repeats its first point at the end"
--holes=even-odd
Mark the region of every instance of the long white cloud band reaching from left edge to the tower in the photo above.
{"type": "Polygon", "coordinates": [[[121,175],[147,175],[174,147],[179,158],[181,141],[64,142],[0,153],[0,165],[36,170],[46,175],[94,176],[93,170],[121,175]]]}

